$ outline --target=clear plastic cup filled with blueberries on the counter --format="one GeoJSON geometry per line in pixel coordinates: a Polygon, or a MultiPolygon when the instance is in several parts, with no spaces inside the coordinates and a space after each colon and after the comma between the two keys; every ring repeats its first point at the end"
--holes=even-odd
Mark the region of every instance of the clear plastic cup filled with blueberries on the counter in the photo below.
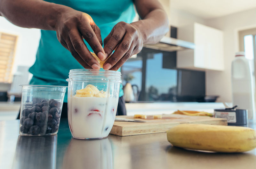
{"type": "Polygon", "coordinates": [[[58,133],[66,86],[21,85],[20,135],[58,133]]]}

